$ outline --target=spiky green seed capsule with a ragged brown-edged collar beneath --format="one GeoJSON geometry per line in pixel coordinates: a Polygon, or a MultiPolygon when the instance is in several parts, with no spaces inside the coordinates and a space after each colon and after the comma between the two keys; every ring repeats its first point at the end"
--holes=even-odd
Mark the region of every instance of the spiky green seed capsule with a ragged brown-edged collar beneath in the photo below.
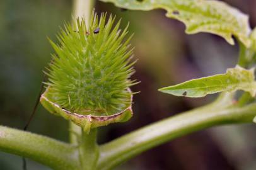
{"type": "Polygon", "coordinates": [[[128,25],[119,30],[115,18],[96,14],[87,26],[83,19],[66,24],[50,40],[55,54],[47,69],[42,105],[55,115],[71,120],[89,132],[90,128],[125,122],[132,116],[132,92],[136,84],[131,62],[131,37],[125,38],[128,25]]]}

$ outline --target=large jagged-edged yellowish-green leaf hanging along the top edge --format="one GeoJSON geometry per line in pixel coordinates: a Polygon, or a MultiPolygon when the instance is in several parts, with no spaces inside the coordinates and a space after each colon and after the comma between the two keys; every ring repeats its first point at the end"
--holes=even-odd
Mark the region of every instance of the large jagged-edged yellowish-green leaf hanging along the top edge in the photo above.
{"type": "Polygon", "coordinates": [[[246,47],[250,46],[248,16],[220,1],[204,0],[101,0],[119,8],[149,11],[165,9],[166,16],[182,21],[186,33],[213,33],[223,37],[231,45],[234,35],[246,47]]]}

